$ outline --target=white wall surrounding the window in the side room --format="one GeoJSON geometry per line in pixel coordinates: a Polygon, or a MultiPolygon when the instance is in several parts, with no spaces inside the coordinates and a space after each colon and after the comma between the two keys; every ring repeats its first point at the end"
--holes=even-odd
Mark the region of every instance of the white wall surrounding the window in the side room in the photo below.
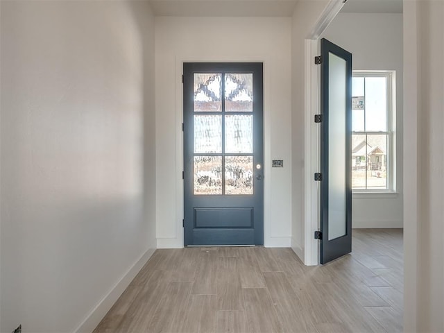
{"type": "Polygon", "coordinates": [[[352,53],[353,70],[396,71],[395,190],[398,195],[354,194],[352,221],[353,228],[402,228],[402,14],[339,13],[322,37],[352,53]]]}

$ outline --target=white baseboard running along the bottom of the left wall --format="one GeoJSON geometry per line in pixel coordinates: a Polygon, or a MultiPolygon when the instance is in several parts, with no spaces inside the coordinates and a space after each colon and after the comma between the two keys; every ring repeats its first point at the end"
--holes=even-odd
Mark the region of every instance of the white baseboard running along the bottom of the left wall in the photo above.
{"type": "Polygon", "coordinates": [[[144,264],[148,262],[151,255],[155,251],[155,244],[150,244],[148,250],[135,262],[133,266],[126,272],[125,275],[117,282],[117,284],[112,287],[112,289],[101,299],[98,305],[92,309],[92,311],[87,315],[85,320],[78,325],[74,333],[91,333],[97,325],[101,322],[105,314],[110,311],[112,305],[121,296],[126,287],[135,278],[137,273],[142,269],[144,264]]]}

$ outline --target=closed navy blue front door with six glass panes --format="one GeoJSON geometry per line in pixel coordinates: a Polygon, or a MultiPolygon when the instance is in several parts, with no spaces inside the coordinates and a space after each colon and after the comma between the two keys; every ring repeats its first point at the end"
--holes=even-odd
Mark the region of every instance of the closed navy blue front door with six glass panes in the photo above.
{"type": "Polygon", "coordinates": [[[264,244],[262,73],[184,64],[185,246],[264,244]]]}

